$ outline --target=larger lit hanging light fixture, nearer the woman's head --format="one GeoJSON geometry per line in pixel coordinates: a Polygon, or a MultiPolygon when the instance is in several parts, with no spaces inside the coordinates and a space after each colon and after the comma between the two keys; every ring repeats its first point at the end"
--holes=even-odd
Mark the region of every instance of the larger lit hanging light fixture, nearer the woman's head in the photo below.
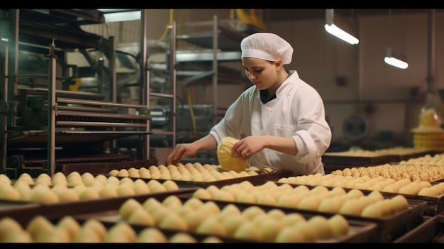
{"type": "Polygon", "coordinates": [[[326,28],[328,33],[345,40],[351,45],[359,43],[355,29],[352,28],[350,23],[335,13],[334,9],[326,9],[326,25],[324,28],[326,28]]]}

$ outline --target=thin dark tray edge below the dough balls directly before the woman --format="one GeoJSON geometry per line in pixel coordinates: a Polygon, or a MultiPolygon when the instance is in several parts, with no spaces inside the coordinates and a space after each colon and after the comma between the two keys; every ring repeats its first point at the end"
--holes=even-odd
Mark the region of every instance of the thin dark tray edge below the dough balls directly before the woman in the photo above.
{"type": "MultiPolygon", "coordinates": [[[[253,185],[262,185],[265,182],[268,182],[270,180],[274,179],[280,179],[282,177],[290,177],[292,176],[291,171],[281,171],[281,172],[271,172],[271,173],[265,173],[265,172],[259,172],[260,175],[252,175],[248,177],[235,177],[231,179],[223,179],[220,181],[213,181],[213,182],[192,182],[192,181],[182,181],[182,180],[171,180],[177,184],[179,187],[209,187],[210,185],[214,185],[216,187],[223,187],[225,185],[240,183],[243,181],[251,182],[253,185]]],[[[109,174],[107,175],[109,177],[109,174]]],[[[119,179],[121,178],[131,178],[133,180],[135,179],[143,179],[145,182],[149,182],[153,178],[134,178],[134,177],[117,177],[119,179]]],[[[166,179],[156,179],[159,182],[165,182],[166,179]]]]}

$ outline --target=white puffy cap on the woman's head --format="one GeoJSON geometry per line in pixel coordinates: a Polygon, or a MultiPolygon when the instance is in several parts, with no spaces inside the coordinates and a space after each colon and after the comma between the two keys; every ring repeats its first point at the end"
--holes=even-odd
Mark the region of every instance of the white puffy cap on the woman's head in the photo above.
{"type": "Polygon", "coordinates": [[[248,35],[240,42],[240,50],[242,50],[241,57],[253,57],[270,61],[282,59],[284,64],[292,62],[292,45],[274,33],[248,35]]]}

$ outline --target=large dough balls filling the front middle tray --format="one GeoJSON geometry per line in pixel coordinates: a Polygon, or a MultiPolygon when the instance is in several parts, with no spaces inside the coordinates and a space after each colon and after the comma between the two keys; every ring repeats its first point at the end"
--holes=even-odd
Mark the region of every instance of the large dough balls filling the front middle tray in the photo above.
{"type": "Polygon", "coordinates": [[[218,206],[214,201],[195,197],[182,202],[174,195],[162,201],[150,197],[143,203],[128,199],[119,214],[131,224],[258,242],[316,242],[348,235],[350,230],[348,221],[340,214],[306,219],[280,209],[239,209],[235,204],[218,206]]]}

